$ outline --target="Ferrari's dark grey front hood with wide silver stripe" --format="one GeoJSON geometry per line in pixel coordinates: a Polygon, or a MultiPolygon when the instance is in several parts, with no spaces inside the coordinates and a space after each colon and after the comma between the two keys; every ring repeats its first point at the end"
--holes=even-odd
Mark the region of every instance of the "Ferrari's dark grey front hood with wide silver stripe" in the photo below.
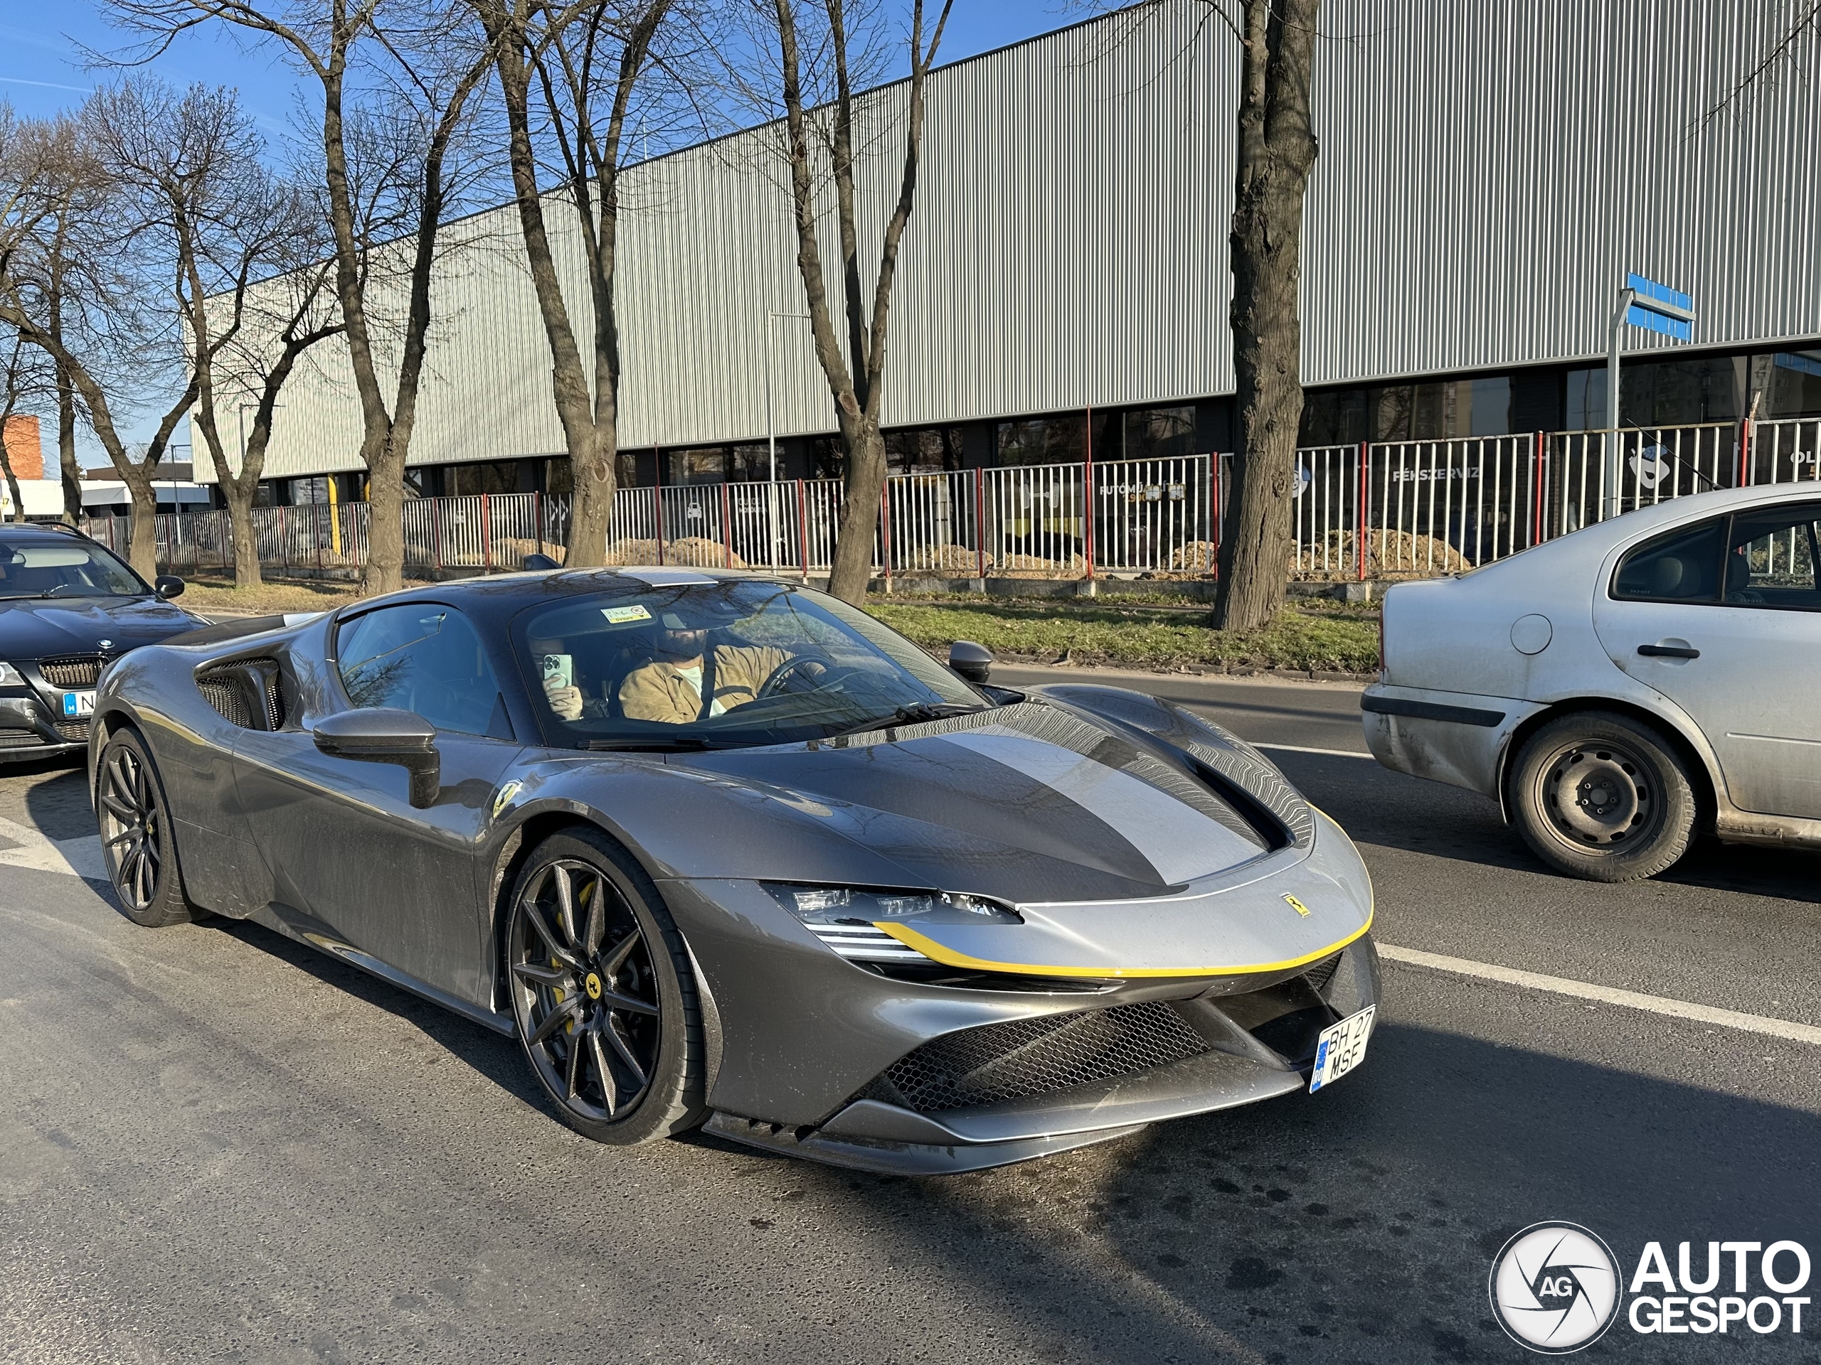
{"type": "Polygon", "coordinates": [[[1287,843],[1167,750],[1042,703],[674,763],[845,835],[892,881],[1020,903],[1160,895],[1287,843]]]}

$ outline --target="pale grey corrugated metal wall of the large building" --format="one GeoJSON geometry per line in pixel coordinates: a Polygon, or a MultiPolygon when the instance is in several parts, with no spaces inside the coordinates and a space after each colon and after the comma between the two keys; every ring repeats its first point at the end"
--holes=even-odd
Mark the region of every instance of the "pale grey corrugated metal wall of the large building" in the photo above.
{"type": "MultiPolygon", "coordinates": [[[[1236,55],[1220,25],[1195,38],[1196,13],[1165,5],[1118,42],[1118,18],[1083,24],[932,75],[887,426],[1231,391],[1236,55]]],[[[1774,7],[1324,13],[1307,382],[1595,357],[1626,269],[1694,293],[1699,346],[1821,335],[1821,135],[1805,86],[1703,122],[1774,40],[1774,7]]],[[[896,187],[901,98],[885,93],[890,127],[865,166],[876,217],[896,187]]],[[[621,444],[761,437],[768,328],[779,433],[832,430],[807,324],[767,324],[803,311],[776,129],[632,167],[625,198],[621,444]]],[[[550,209],[579,282],[566,209],[550,209]]],[[[517,231],[510,207],[448,231],[413,464],[563,451],[517,231]]],[[[1628,344],[1652,342],[1666,344],[1628,344]]],[[[353,470],[357,446],[346,355],[328,342],[284,395],[268,471],[353,470]]]]}

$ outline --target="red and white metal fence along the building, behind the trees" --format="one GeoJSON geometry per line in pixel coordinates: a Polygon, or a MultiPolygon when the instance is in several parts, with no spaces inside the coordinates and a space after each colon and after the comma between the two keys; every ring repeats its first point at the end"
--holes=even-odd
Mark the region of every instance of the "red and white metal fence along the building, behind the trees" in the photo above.
{"type": "MultiPolygon", "coordinates": [[[[1814,419],[1300,450],[1286,568],[1297,579],[1457,573],[1613,510],[1817,479],[1814,419]]],[[[916,579],[1211,575],[1233,488],[1231,455],[892,475],[872,568],[916,579]]],[[[836,479],[623,488],[606,562],[827,573],[841,502],[836,479]]],[[[568,515],[566,497],[541,493],[408,499],[404,562],[415,573],[493,573],[530,553],[561,559],[568,515]]],[[[366,562],[368,521],[362,502],[255,508],[260,564],[351,575],[366,562]]],[[[122,551],[126,526],[86,522],[122,551]]],[[[226,511],[160,515],[157,539],[160,568],[233,568],[226,511]]]]}

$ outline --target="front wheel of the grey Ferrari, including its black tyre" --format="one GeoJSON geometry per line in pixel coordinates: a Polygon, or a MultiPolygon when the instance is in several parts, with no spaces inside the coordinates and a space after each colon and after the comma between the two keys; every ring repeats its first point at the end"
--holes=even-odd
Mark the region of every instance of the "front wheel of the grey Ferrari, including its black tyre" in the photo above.
{"type": "Polygon", "coordinates": [[[524,1056],[570,1127],[637,1143],[697,1121],[696,983],[637,863],[594,830],[546,839],[514,885],[504,948],[524,1056]]]}

